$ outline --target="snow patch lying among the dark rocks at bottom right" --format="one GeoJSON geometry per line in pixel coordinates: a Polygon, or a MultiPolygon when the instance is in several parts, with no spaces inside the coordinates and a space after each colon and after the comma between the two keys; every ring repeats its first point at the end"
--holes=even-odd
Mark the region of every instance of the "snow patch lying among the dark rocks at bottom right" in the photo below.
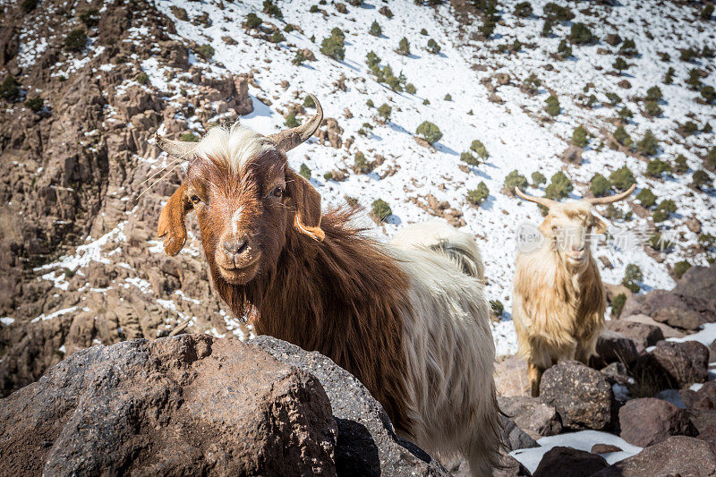
{"type": "Polygon", "coordinates": [[[590,452],[595,444],[608,444],[611,446],[617,446],[622,449],[622,452],[610,452],[609,454],[602,454],[601,456],[607,460],[608,464],[614,464],[620,460],[626,459],[626,457],[635,456],[642,451],[642,447],[636,447],[626,442],[626,440],[618,438],[613,434],[607,432],[600,432],[599,430],[580,430],[578,432],[568,432],[566,434],[559,434],[558,436],[550,436],[542,438],[537,441],[540,447],[532,447],[528,449],[519,449],[510,452],[510,456],[513,456],[527,467],[530,473],[537,470],[537,466],[548,451],[553,447],[564,446],[572,447],[577,450],[584,450],[590,452]]]}

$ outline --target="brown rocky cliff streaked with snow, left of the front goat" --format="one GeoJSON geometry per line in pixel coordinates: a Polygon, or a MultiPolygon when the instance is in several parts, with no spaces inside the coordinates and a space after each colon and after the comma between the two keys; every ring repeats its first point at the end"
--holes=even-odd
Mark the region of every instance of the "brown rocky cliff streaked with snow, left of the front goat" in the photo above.
{"type": "Polygon", "coordinates": [[[179,256],[150,251],[180,172],[151,138],[251,112],[250,78],[142,0],[0,8],[0,396],[93,344],[180,322],[245,333],[210,290],[195,224],[179,256]],[[144,72],[159,69],[166,88],[144,72]]]}

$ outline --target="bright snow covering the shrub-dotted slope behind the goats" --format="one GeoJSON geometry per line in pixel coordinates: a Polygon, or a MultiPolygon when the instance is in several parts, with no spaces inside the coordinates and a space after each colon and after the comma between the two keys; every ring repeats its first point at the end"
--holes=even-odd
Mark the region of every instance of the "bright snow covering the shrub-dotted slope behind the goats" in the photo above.
{"type": "MultiPolygon", "coordinates": [[[[285,111],[289,102],[303,102],[305,91],[308,91],[320,98],[327,117],[337,118],[345,130],[344,141],[354,137],[350,151],[323,147],[311,141],[289,155],[294,168],[302,164],[311,168],[311,183],[317,187],[325,203],[340,205],[345,196],[357,198],[367,207],[378,198],[388,201],[393,216],[388,217],[386,224],[373,226],[373,232],[384,238],[395,234],[400,226],[429,217],[427,212],[410,201],[411,198],[433,194],[438,200],[447,200],[452,207],[462,210],[467,222],[465,229],[477,237],[485,256],[489,277],[487,294],[490,299],[506,305],[508,318],[516,255],[516,226],[525,221],[533,224],[541,222],[536,206],[524,204],[500,192],[505,176],[514,169],[527,177],[539,170],[548,179],[565,169],[575,183],[572,197],[577,198],[585,192],[595,172],[608,175],[626,164],[637,173],[639,188],[649,187],[657,196],[675,200],[677,217],[698,217],[703,223],[704,233],[716,234],[712,194],[689,192],[686,183],[690,175],[662,182],[647,179],[643,176],[644,161],[607,147],[595,150],[602,141],[598,134],[600,129],[613,131],[606,118],[614,117],[616,109],[607,106],[586,109],[575,104],[575,92],[581,92],[588,82],[593,83],[590,93],[593,92],[601,101],[606,102],[607,92],[618,92],[624,98],[619,106],[628,106],[635,112],[635,122],[627,125],[627,131],[635,140],[651,128],[660,139],[669,141],[668,144],[662,141],[661,158],[672,160],[680,153],[686,156],[690,166],[697,167],[698,155],[704,154],[707,145],[712,143],[712,134],[701,133],[685,140],[674,131],[677,123],[686,121],[687,115],[699,125],[713,117],[713,107],[696,104],[693,100],[696,93],[684,87],[687,70],[694,65],[678,61],[678,48],[701,48],[712,37],[707,31],[694,28],[695,11],[687,8],[674,11],[670,4],[625,1],[620,7],[595,5],[590,8],[594,14],[585,15],[580,10],[591,3],[570,3],[576,14],[575,21],[595,22],[592,31],[598,37],[605,38],[608,33],[618,32],[622,38],[635,38],[640,55],[630,60],[635,66],[623,77],[618,77],[605,74],[611,71],[610,64],[616,55],[602,54],[601,49],[610,48],[603,42],[592,46],[574,46],[574,56],[564,62],[551,59],[550,53],[556,51],[560,38],[567,35],[569,23],[555,25],[553,36],[541,38],[539,32],[543,21],[535,16],[518,20],[512,14],[515,3],[512,0],[500,2],[506,24],[498,26],[495,38],[489,43],[468,39],[469,32],[479,24],[478,20],[468,28],[466,35],[461,35],[464,29],[455,20],[448,4],[433,9],[408,0],[393,1],[388,4],[395,15],[390,20],[379,13],[383,4],[370,0],[360,7],[348,5],[347,14],[334,14],[333,5],[320,5],[330,13],[327,17],[309,12],[314,2],[279,1],[276,4],[283,10],[284,21],[261,13],[259,0],[237,4],[160,0],[158,7],[175,20],[177,38],[210,44],[216,50],[214,62],[224,64],[231,72],[253,72],[260,89],[250,89],[255,110],[242,119],[243,124],[263,133],[285,127],[284,118],[277,110],[285,111]],[[171,11],[172,6],[185,9],[190,21],[178,20],[171,11]],[[193,25],[191,20],[204,12],[209,13],[211,25],[208,28],[193,25]],[[300,27],[303,34],[298,30],[285,32],[286,41],[279,44],[253,38],[242,26],[248,13],[258,14],[263,21],[277,25],[280,30],[286,23],[291,23],[300,27]],[[669,21],[660,21],[667,15],[669,21]],[[379,38],[368,33],[372,21],[378,21],[382,28],[379,38]],[[319,52],[321,40],[336,27],[345,32],[345,60],[341,62],[319,52]],[[428,36],[420,33],[422,29],[427,30],[428,36]],[[682,33],[685,31],[688,34],[682,33]],[[226,36],[234,38],[237,44],[226,44],[222,40],[226,36]],[[315,37],[315,43],[311,42],[311,37],[315,37]],[[395,52],[398,41],[403,37],[410,42],[411,55],[397,55],[395,52]],[[439,55],[425,50],[428,38],[434,38],[439,43],[439,55]],[[495,51],[498,44],[511,44],[515,38],[525,44],[533,43],[534,49],[523,48],[516,55],[495,51]],[[291,64],[295,52],[306,47],[313,51],[317,61],[301,66],[291,64]],[[407,81],[415,85],[416,94],[398,93],[375,81],[365,64],[365,55],[369,51],[374,51],[381,58],[381,65],[390,64],[396,74],[403,72],[407,81]],[[659,61],[657,51],[668,52],[672,61],[659,61]],[[488,66],[487,71],[475,71],[473,64],[488,66]],[[545,69],[547,64],[553,64],[551,71],[545,69]],[[661,84],[661,78],[669,66],[675,68],[677,80],[667,86],[661,84]],[[516,86],[504,86],[499,88],[498,94],[505,104],[491,103],[489,92],[480,79],[494,72],[508,72],[513,82],[523,81],[530,73],[537,72],[543,81],[540,94],[530,97],[516,86]],[[346,91],[334,84],[341,76],[345,76],[346,91]],[[616,86],[625,78],[632,83],[632,89],[623,90],[616,86]],[[287,89],[281,87],[282,81],[288,81],[287,89]],[[638,113],[640,104],[635,103],[633,97],[643,95],[654,84],[659,84],[664,94],[665,101],[661,105],[664,115],[646,120],[638,113]],[[562,114],[554,123],[543,124],[540,120],[544,115],[543,102],[550,92],[557,94],[562,114]],[[450,94],[453,100],[444,100],[446,94],[450,94]],[[257,97],[270,98],[272,106],[265,105],[257,97]],[[379,124],[376,110],[366,106],[368,99],[375,106],[388,103],[393,107],[387,123],[379,124]],[[423,104],[425,99],[430,104],[423,104]],[[345,117],[345,109],[350,110],[352,118],[345,117]],[[436,144],[435,152],[413,141],[416,127],[425,120],[438,124],[444,134],[436,144]],[[358,133],[365,123],[374,126],[368,136],[358,133]],[[594,149],[585,150],[582,166],[566,166],[557,156],[567,148],[567,140],[579,124],[584,124],[598,137],[591,142],[594,149]],[[469,149],[476,139],[485,144],[490,158],[486,164],[465,172],[459,167],[459,155],[469,149]],[[370,174],[352,174],[342,183],[323,179],[323,175],[332,169],[350,170],[354,153],[358,150],[369,160],[376,155],[382,155],[387,160],[370,174]],[[381,179],[381,173],[391,167],[397,167],[397,172],[381,179]],[[481,181],[490,189],[490,198],[476,209],[467,203],[465,193],[481,181]]],[[[541,14],[545,3],[532,2],[534,12],[541,14]]],[[[153,83],[155,79],[157,86],[166,85],[158,75],[150,75],[153,83]]],[[[704,81],[712,81],[712,78],[704,81]]],[[[530,192],[542,193],[535,189],[530,192]]],[[[372,226],[367,219],[366,223],[372,226]]],[[[644,224],[638,219],[626,225],[635,227],[644,224]]],[[[671,288],[674,282],[669,277],[667,264],[683,260],[687,248],[695,243],[696,235],[680,221],[677,225],[671,219],[665,224],[675,226],[673,234],[678,243],[664,263],[653,260],[641,248],[614,250],[602,246],[596,254],[607,257],[614,266],[612,269],[601,269],[603,279],[618,283],[626,264],[635,263],[644,272],[645,290],[671,288]]],[[[690,260],[695,264],[705,264],[703,254],[690,260]]],[[[516,337],[511,322],[505,319],[495,324],[494,331],[499,354],[514,353],[516,337]]]]}

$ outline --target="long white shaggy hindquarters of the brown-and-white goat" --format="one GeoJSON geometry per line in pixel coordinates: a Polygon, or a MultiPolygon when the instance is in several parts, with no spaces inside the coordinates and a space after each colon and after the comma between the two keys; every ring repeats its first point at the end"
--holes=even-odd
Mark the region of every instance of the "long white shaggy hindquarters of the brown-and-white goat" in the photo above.
{"type": "Polygon", "coordinates": [[[473,475],[491,475],[500,424],[480,251],[470,235],[435,221],[407,227],[393,245],[388,252],[410,277],[413,307],[403,320],[414,434],[406,438],[430,453],[459,452],[473,475]],[[465,274],[458,250],[478,277],[465,274]]]}

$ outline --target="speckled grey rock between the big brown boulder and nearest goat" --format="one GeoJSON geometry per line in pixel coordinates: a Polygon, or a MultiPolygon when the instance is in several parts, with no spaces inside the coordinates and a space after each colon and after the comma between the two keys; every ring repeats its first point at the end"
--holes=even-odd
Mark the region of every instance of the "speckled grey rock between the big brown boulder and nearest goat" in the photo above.
{"type": "Polygon", "coordinates": [[[382,406],[354,376],[323,354],[271,336],[249,344],[311,373],[328,395],[338,425],[336,468],[342,475],[447,475],[421,448],[396,436],[382,406]]]}

